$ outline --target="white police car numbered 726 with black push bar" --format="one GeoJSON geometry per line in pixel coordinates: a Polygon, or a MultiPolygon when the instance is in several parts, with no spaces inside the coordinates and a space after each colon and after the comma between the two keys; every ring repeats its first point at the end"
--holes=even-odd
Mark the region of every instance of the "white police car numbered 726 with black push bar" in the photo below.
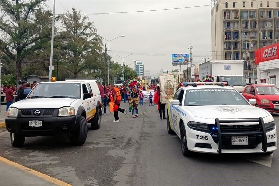
{"type": "Polygon", "coordinates": [[[253,106],[255,99],[249,103],[219,82],[199,84],[204,85],[181,87],[167,105],[168,133],[178,135],[184,156],[192,151],[270,155],[276,150],[274,119],[253,106]]]}

